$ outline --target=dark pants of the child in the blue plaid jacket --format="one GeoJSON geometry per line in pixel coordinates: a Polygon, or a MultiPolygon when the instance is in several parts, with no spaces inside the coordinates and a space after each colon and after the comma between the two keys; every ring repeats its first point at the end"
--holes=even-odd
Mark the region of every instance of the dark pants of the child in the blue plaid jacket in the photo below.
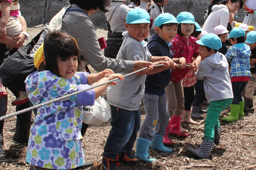
{"type": "Polygon", "coordinates": [[[233,101],[232,104],[239,105],[239,101],[243,101],[242,92],[244,91],[248,81],[237,81],[232,83],[233,101]]]}

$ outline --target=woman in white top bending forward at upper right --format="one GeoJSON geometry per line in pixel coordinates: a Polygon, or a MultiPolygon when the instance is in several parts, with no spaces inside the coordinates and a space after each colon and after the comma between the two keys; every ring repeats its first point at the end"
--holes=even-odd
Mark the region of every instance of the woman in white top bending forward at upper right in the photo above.
{"type": "Polygon", "coordinates": [[[243,6],[243,0],[227,0],[222,1],[220,5],[212,7],[212,13],[206,19],[203,30],[208,33],[213,33],[213,30],[218,25],[228,26],[229,12],[234,13],[243,6]]]}

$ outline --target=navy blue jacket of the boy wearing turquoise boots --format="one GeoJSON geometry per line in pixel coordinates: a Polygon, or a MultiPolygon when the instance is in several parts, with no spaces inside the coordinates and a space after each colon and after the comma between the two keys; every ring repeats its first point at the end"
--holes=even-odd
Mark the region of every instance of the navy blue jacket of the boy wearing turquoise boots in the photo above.
{"type": "MultiPolygon", "coordinates": [[[[152,56],[169,56],[173,58],[172,46],[164,41],[161,37],[154,34],[148,41],[148,50],[152,56]]],[[[169,84],[172,70],[167,69],[162,72],[147,75],[145,81],[145,93],[157,96],[165,94],[164,88],[169,84]]]]}

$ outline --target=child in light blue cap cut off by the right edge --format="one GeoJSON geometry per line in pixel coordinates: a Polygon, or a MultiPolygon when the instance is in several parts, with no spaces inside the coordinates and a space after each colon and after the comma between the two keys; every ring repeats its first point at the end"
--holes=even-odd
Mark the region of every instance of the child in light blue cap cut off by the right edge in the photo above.
{"type": "Polygon", "coordinates": [[[244,112],[248,113],[248,109],[250,105],[253,107],[253,94],[254,89],[256,87],[256,32],[250,31],[247,33],[245,43],[250,46],[251,49],[251,57],[250,57],[250,65],[251,65],[251,78],[246,85],[245,95],[244,95],[244,112]]]}

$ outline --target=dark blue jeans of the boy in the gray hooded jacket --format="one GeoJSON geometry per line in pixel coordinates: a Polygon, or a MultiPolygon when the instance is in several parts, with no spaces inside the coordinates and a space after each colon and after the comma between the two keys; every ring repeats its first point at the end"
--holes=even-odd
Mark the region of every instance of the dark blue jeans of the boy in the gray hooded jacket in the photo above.
{"type": "Polygon", "coordinates": [[[140,110],[127,111],[126,109],[111,106],[111,126],[109,136],[104,147],[104,156],[116,159],[121,152],[130,154],[140,130],[140,110]]]}

